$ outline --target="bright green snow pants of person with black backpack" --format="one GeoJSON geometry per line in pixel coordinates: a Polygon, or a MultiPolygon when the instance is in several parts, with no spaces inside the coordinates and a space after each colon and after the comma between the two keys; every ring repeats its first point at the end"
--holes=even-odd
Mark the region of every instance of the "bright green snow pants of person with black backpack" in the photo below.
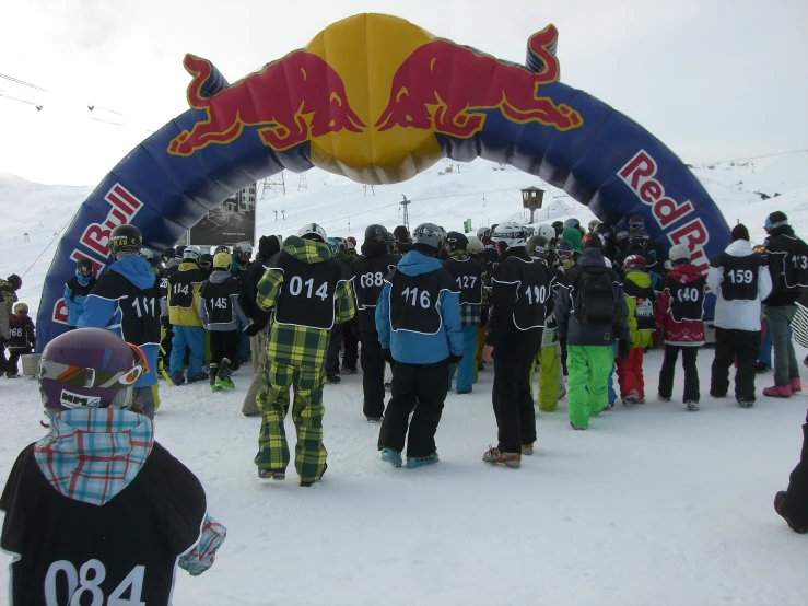
{"type": "Polygon", "coordinates": [[[566,352],[570,422],[586,429],[606,407],[614,346],[567,345],[566,352]]]}

